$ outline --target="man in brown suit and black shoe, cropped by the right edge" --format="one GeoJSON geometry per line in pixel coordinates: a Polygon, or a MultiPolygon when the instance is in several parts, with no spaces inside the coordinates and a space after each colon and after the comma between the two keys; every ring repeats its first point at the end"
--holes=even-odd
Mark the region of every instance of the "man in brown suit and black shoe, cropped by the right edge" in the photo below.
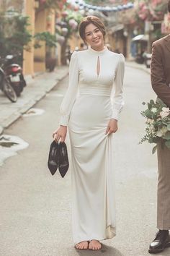
{"type": "MultiPolygon", "coordinates": [[[[170,13],[170,1],[168,4],[170,13]]],[[[151,84],[158,98],[170,107],[170,34],[153,43],[151,84]]],[[[156,238],[148,252],[162,252],[170,247],[170,150],[158,144],[158,200],[156,238]]]]}

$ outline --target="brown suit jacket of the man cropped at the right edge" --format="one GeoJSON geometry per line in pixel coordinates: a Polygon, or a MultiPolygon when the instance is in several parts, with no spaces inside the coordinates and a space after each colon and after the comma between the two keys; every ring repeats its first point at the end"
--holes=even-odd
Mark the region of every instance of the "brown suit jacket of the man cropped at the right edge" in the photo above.
{"type": "Polygon", "coordinates": [[[158,98],[170,106],[170,35],[153,43],[151,85],[158,98]]]}

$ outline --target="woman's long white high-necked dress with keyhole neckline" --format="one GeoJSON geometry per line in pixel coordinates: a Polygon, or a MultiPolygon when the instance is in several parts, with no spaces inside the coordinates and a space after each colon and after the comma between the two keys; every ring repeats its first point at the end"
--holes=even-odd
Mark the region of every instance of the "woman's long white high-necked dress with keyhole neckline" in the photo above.
{"type": "Polygon", "coordinates": [[[116,234],[114,140],[105,132],[122,110],[124,66],[124,56],[106,47],[71,56],[60,124],[68,126],[71,140],[75,244],[116,234]]]}

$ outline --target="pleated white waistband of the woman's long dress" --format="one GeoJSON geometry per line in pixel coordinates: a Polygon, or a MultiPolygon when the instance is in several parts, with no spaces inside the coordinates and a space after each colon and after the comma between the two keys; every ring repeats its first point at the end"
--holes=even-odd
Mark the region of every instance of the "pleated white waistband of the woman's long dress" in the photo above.
{"type": "Polygon", "coordinates": [[[110,97],[112,88],[107,85],[82,85],[79,87],[79,95],[100,95],[110,97]]]}

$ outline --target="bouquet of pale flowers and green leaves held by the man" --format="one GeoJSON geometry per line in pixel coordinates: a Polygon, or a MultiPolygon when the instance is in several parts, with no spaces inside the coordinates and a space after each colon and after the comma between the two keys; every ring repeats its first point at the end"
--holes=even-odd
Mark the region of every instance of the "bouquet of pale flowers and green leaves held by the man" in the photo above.
{"type": "MultiPolygon", "coordinates": [[[[143,105],[146,105],[143,102],[143,105]]],[[[146,135],[140,143],[148,141],[149,143],[161,142],[167,148],[170,148],[170,109],[163,101],[158,99],[156,102],[151,100],[147,103],[148,108],[141,114],[146,118],[146,135]]],[[[156,152],[157,145],[153,147],[152,153],[156,152]]]]}

